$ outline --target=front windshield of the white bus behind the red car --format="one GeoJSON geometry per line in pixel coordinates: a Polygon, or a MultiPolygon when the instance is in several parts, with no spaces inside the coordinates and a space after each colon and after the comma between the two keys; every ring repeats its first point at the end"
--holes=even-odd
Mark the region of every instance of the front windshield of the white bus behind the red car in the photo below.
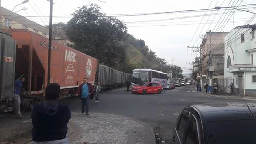
{"type": "Polygon", "coordinates": [[[134,84],[149,82],[148,77],[148,71],[133,71],[131,82],[134,84]]]}

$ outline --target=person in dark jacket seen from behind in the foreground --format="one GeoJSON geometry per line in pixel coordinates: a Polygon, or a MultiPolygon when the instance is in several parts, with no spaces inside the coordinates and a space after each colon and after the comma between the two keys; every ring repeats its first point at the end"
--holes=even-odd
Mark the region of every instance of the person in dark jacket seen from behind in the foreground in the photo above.
{"type": "Polygon", "coordinates": [[[33,106],[32,143],[69,143],[66,134],[71,111],[58,101],[59,95],[60,85],[50,83],[45,89],[45,102],[33,106]]]}

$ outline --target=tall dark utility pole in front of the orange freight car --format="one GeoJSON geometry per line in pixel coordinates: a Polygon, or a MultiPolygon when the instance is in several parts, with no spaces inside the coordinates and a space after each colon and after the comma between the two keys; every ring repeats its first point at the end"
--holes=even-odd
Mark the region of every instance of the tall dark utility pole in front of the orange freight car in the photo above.
{"type": "Polygon", "coordinates": [[[52,56],[52,20],[53,20],[53,0],[50,1],[50,24],[49,24],[49,47],[48,47],[48,79],[47,85],[50,84],[50,61],[52,56]]]}

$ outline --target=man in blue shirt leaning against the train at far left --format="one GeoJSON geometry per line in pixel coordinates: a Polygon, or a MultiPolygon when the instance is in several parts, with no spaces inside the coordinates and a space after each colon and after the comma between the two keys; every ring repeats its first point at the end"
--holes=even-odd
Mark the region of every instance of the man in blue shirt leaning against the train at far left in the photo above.
{"type": "Polygon", "coordinates": [[[16,80],[14,85],[14,88],[15,88],[14,97],[13,97],[14,112],[16,115],[18,115],[19,118],[23,117],[20,111],[20,106],[21,106],[20,93],[21,93],[22,83],[24,82],[25,82],[25,78],[21,78],[20,80],[16,80]]]}

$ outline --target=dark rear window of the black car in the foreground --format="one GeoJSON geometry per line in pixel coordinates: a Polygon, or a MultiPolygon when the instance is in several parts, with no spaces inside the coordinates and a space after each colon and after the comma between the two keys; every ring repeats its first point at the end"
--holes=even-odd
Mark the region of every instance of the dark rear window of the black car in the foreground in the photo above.
{"type": "Polygon", "coordinates": [[[217,121],[206,124],[208,143],[256,143],[256,120],[217,121]]]}

